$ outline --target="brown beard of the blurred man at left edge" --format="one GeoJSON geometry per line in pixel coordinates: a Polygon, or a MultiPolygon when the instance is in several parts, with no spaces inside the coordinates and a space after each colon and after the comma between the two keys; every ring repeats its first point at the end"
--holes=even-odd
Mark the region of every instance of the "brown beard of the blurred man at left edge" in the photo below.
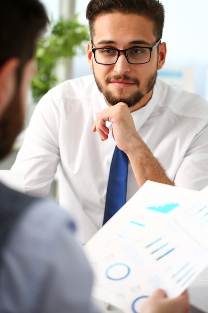
{"type": "Polygon", "coordinates": [[[23,122],[24,111],[20,92],[17,91],[0,117],[0,159],[10,152],[16,136],[22,130],[23,122]]]}

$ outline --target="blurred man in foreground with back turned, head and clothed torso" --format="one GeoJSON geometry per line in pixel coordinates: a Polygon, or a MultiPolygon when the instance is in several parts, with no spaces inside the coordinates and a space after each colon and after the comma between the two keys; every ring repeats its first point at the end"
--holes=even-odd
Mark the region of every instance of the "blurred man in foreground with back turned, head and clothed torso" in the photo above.
{"type": "MultiPolygon", "coordinates": [[[[37,37],[38,0],[0,0],[0,159],[22,129],[37,37]]],[[[75,224],[56,203],[0,182],[0,313],[96,313],[92,272],[75,224]]]]}

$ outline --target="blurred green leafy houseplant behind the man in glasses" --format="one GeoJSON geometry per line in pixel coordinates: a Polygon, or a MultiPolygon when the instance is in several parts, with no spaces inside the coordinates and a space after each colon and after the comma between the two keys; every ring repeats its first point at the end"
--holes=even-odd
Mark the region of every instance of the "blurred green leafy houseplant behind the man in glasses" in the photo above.
{"type": "Polygon", "coordinates": [[[88,27],[80,24],[77,17],[76,14],[72,19],[51,21],[49,33],[38,41],[35,55],[37,73],[31,83],[34,101],[59,82],[55,70],[57,63],[65,61],[66,64],[67,59],[86,50],[88,27]]]}

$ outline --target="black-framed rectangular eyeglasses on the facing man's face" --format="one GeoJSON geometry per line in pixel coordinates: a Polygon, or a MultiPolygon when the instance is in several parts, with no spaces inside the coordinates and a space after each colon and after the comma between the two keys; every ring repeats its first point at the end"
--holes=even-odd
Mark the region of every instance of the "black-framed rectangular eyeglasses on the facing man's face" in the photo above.
{"type": "Polygon", "coordinates": [[[152,51],[159,45],[161,38],[152,46],[137,46],[129,49],[119,50],[114,48],[93,48],[93,41],[91,40],[92,52],[95,57],[95,61],[98,64],[110,65],[115,64],[123,52],[126,59],[131,64],[144,64],[148,63],[151,58],[152,51]]]}

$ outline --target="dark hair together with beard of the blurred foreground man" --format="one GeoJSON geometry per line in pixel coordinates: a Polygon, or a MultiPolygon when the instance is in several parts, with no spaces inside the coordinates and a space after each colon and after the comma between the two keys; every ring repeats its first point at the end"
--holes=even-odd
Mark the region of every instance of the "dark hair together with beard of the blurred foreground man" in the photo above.
{"type": "Polygon", "coordinates": [[[24,65],[35,53],[36,40],[45,30],[47,14],[38,0],[0,0],[0,67],[17,57],[16,90],[0,116],[0,159],[10,151],[22,129],[24,109],[20,84],[24,65]]]}

